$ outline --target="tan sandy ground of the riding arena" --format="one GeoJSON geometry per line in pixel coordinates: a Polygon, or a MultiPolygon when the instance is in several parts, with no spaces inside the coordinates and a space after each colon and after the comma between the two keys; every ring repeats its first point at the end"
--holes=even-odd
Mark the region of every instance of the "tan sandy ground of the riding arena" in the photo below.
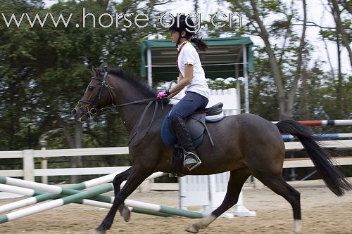
{"type": "MultiPolygon", "coordinates": [[[[297,188],[301,192],[303,233],[352,234],[352,193],[337,197],[327,188],[297,188]]],[[[151,191],[133,193],[129,199],[177,207],[178,192],[151,191]]],[[[16,199],[0,200],[7,204],[16,199]]],[[[288,202],[268,188],[244,190],[244,204],[257,213],[255,217],[220,218],[203,234],[230,233],[292,233],[292,210],[288,202]]],[[[68,204],[40,214],[0,224],[0,233],[92,233],[101,223],[108,209],[68,204]]],[[[131,221],[125,223],[119,215],[108,231],[133,234],[179,234],[196,219],[183,217],[157,217],[132,213],[131,221]]]]}

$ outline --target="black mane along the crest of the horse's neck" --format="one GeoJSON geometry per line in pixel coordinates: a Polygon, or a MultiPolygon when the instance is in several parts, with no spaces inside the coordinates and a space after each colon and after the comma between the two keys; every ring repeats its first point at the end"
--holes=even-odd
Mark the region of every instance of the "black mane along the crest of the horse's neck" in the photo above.
{"type": "Polygon", "coordinates": [[[158,92],[151,88],[142,77],[139,77],[137,74],[133,74],[132,72],[127,72],[123,70],[121,67],[108,67],[108,72],[111,74],[115,74],[125,81],[132,84],[132,86],[139,89],[139,91],[146,96],[146,98],[155,98],[158,92]]]}

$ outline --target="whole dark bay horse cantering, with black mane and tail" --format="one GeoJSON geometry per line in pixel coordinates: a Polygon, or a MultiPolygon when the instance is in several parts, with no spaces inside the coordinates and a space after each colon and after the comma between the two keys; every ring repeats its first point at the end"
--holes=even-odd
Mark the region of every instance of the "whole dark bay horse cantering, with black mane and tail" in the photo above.
{"type": "MultiPolygon", "coordinates": [[[[130,211],[124,207],[123,202],[145,178],[155,171],[171,171],[172,149],[163,144],[160,132],[163,119],[172,105],[164,102],[161,108],[161,103],[155,101],[151,103],[151,108],[146,108],[148,103],[145,100],[153,100],[157,92],[141,82],[141,79],[120,68],[101,65],[93,70],[94,77],[73,110],[75,119],[91,117],[97,110],[115,105],[131,139],[129,150],[132,167],[114,178],[113,207],[95,230],[95,233],[106,233],[118,210],[125,221],[130,219],[130,211]],[[155,111],[155,105],[159,106],[158,111],[155,111]],[[144,120],[139,122],[143,112],[144,120]],[[120,190],[120,184],[126,179],[127,183],[120,190]]],[[[294,232],[301,233],[300,193],[282,178],[285,148],[281,134],[294,135],[301,141],[333,193],[344,195],[344,191],[352,188],[351,183],[334,167],[327,153],[315,142],[310,131],[297,122],[284,120],[272,124],[257,115],[241,114],[225,117],[221,122],[209,123],[208,129],[215,146],[210,144],[205,134],[203,142],[196,149],[201,157],[201,167],[192,171],[184,169],[183,174],[204,175],[230,171],[230,180],[220,207],[189,226],[186,230],[190,233],[198,233],[199,229],[206,228],[236,204],[244,182],[251,175],[291,204],[294,232]]]]}

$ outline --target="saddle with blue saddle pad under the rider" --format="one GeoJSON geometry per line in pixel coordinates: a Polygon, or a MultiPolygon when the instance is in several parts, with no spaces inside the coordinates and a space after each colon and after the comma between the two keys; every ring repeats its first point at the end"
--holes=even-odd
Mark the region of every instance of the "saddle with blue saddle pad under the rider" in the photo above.
{"type": "MultiPolygon", "coordinates": [[[[185,119],[194,147],[199,146],[203,141],[204,131],[207,132],[210,143],[214,145],[206,122],[220,122],[225,117],[222,112],[223,105],[223,103],[217,103],[210,108],[199,108],[185,119]]],[[[165,145],[168,145],[170,148],[175,148],[175,145],[177,146],[177,138],[170,128],[169,115],[170,113],[166,115],[161,125],[161,138],[165,145]]]]}

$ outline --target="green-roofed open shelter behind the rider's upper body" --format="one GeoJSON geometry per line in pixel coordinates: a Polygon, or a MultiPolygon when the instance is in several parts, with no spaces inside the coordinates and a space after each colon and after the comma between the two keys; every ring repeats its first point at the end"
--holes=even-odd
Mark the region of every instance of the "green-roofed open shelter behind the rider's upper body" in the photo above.
{"type": "MultiPolygon", "coordinates": [[[[243,75],[243,45],[247,48],[247,70],[254,70],[253,42],[249,37],[207,38],[208,51],[199,51],[206,77],[226,78],[243,75]]],[[[153,80],[175,80],[177,69],[175,65],[176,48],[169,39],[153,39],[142,41],[141,76],[146,76],[146,50],[151,49],[151,64],[153,80]]]]}

